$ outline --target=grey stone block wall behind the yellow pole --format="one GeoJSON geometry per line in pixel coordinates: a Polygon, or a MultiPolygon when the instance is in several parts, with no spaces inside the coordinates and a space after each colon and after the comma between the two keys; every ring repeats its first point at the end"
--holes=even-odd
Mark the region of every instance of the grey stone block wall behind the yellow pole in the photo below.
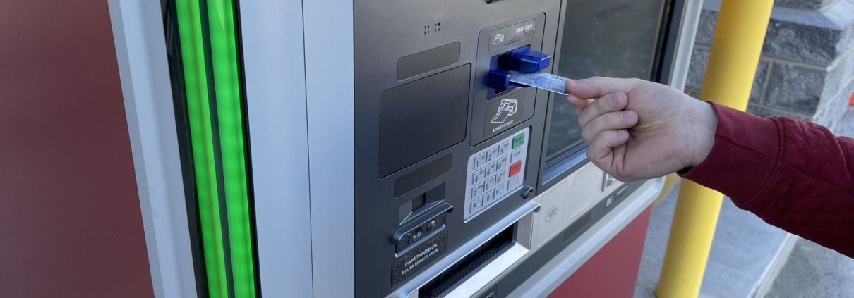
{"type": "MultiPolygon", "coordinates": [[[[685,90],[698,98],[720,0],[703,6],[685,90]]],[[[747,112],[797,117],[839,133],[852,92],[854,0],[777,0],[747,112]]]]}

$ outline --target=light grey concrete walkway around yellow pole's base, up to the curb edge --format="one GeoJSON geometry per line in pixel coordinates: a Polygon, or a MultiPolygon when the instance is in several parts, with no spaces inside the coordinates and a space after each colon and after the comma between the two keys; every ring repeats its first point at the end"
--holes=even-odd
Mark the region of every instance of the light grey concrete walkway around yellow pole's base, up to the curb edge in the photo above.
{"type": "MultiPolygon", "coordinates": [[[[646,244],[640,261],[635,298],[653,298],[664,261],[670,223],[676,209],[678,186],[652,209],[646,244]]],[[[735,207],[724,198],[705,267],[700,297],[753,297],[761,291],[767,272],[773,272],[775,256],[789,239],[788,233],[770,226],[756,215],[735,207]]],[[[791,246],[791,245],[790,245],[791,246]]]]}

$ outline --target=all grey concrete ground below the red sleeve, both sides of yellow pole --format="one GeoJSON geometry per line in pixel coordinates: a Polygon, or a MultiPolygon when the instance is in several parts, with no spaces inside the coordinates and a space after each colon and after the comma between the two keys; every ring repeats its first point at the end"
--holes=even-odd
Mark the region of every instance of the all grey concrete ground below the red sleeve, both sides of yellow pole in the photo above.
{"type": "MultiPolygon", "coordinates": [[[[839,135],[854,137],[854,107],[839,135]]],[[[677,190],[652,209],[635,298],[655,297],[677,190]]],[[[699,297],[854,297],[854,259],[770,226],[724,198],[699,297]]]]}

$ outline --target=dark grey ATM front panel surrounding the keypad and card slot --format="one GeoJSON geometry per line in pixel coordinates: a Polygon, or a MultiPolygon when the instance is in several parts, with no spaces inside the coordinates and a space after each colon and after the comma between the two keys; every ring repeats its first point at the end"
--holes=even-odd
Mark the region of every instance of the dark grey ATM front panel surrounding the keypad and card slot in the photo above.
{"type": "MultiPolygon", "coordinates": [[[[489,2],[354,2],[354,265],[358,297],[391,294],[553,185],[541,177],[543,139],[553,97],[533,88],[501,92],[489,89],[487,81],[497,57],[511,50],[529,48],[554,57],[565,9],[561,5],[566,2],[489,2]],[[532,30],[526,31],[529,24],[532,30]],[[522,35],[509,35],[520,30],[522,35]],[[498,41],[496,34],[505,37],[498,41]],[[494,106],[509,97],[520,101],[512,123],[490,124],[494,106]],[[521,169],[522,186],[477,214],[464,212],[465,204],[470,203],[465,200],[470,192],[466,184],[470,158],[523,131],[527,156],[521,169]]],[[[555,62],[543,71],[552,72],[555,62]]],[[[566,165],[565,173],[556,179],[586,163],[582,160],[576,158],[566,165]]],[[[616,192],[623,196],[641,183],[627,184],[616,192]]],[[[570,226],[572,231],[555,238],[541,249],[540,257],[526,262],[512,276],[521,278],[524,272],[535,270],[604,212],[604,207],[591,210],[584,225],[570,226]]],[[[420,296],[442,296],[461,275],[487,260],[488,254],[503,249],[500,244],[515,238],[517,228],[508,227],[459,261],[459,268],[454,266],[447,276],[442,273],[433,278],[430,284],[440,284],[424,289],[420,296]],[[498,244],[489,246],[493,243],[498,244]],[[476,256],[477,261],[466,262],[476,256]]],[[[505,284],[507,289],[500,292],[508,293],[519,283],[505,284]]]]}

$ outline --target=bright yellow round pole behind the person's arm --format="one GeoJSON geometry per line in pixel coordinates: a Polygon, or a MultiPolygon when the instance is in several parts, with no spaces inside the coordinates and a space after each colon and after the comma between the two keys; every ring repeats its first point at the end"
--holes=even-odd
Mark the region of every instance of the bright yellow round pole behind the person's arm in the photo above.
{"type": "MultiPolygon", "coordinates": [[[[773,6],[773,0],[722,1],[701,100],[746,109],[773,6]]],[[[721,193],[682,180],[658,298],[699,295],[722,201],[721,193]]]]}

